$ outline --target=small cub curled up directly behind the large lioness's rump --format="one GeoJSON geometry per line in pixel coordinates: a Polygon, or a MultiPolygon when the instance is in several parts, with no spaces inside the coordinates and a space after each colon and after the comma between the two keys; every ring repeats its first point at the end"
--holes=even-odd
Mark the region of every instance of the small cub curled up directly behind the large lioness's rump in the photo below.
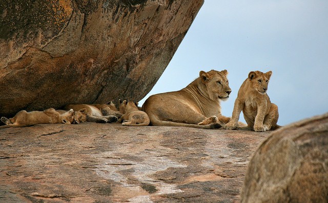
{"type": "Polygon", "coordinates": [[[139,110],[138,103],[132,101],[119,100],[119,111],[124,114],[120,121],[122,125],[130,126],[147,126],[149,125],[149,117],[146,112],[139,110]]]}

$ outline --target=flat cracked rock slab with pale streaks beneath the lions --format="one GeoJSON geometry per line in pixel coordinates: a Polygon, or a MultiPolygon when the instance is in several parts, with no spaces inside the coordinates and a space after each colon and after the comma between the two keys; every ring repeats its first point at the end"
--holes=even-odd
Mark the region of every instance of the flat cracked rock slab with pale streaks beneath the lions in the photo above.
{"type": "Polygon", "coordinates": [[[3,202],[237,202],[270,132],[120,124],[0,130],[3,202]]]}

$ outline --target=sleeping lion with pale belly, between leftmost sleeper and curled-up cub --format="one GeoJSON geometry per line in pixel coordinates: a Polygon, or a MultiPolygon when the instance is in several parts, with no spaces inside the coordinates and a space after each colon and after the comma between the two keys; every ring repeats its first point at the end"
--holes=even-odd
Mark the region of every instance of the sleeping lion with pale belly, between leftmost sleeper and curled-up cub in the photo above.
{"type": "MultiPolygon", "coordinates": [[[[110,105],[108,104],[68,104],[64,106],[64,109],[73,109],[74,111],[80,111],[81,114],[86,114],[86,121],[97,123],[112,123],[116,122],[118,118],[114,115],[108,115],[111,113],[110,105]],[[104,113],[106,114],[104,115],[104,113]]],[[[115,115],[121,115],[120,112],[113,112],[115,115]]],[[[79,122],[83,122],[80,120],[79,122]]]]}

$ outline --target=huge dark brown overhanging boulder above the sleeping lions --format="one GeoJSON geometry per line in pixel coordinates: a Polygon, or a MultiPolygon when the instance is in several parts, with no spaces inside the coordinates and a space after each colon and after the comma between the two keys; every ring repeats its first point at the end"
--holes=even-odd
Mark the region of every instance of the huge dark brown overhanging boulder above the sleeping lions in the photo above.
{"type": "Polygon", "coordinates": [[[139,101],[203,0],[3,0],[0,115],[68,103],[139,101]]]}

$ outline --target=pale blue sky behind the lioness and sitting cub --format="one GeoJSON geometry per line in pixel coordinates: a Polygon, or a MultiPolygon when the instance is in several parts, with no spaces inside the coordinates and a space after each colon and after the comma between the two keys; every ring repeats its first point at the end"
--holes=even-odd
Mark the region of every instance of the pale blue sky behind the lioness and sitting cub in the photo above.
{"type": "MultiPolygon", "coordinates": [[[[232,88],[221,102],[231,116],[250,71],[272,71],[268,95],[279,125],[328,112],[328,1],[205,0],[152,91],[177,91],[199,71],[227,69],[232,88]]],[[[241,121],[243,116],[240,116],[241,121]]]]}

